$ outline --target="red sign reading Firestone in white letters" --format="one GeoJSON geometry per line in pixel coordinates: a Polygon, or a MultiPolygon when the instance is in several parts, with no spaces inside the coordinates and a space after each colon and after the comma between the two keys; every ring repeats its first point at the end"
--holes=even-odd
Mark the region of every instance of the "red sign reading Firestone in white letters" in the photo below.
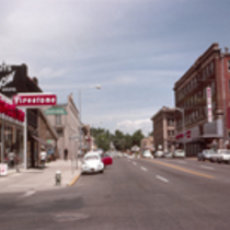
{"type": "Polygon", "coordinates": [[[41,107],[56,105],[57,96],[46,93],[25,93],[13,96],[13,104],[22,107],[41,107]]]}

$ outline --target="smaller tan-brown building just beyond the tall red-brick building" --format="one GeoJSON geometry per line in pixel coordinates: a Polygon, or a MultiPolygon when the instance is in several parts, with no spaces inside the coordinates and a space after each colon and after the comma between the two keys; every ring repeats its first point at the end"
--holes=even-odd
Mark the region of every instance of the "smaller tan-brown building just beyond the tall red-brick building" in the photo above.
{"type": "Polygon", "coordinates": [[[163,106],[151,118],[153,124],[154,150],[173,152],[175,149],[175,108],[163,106]]]}

